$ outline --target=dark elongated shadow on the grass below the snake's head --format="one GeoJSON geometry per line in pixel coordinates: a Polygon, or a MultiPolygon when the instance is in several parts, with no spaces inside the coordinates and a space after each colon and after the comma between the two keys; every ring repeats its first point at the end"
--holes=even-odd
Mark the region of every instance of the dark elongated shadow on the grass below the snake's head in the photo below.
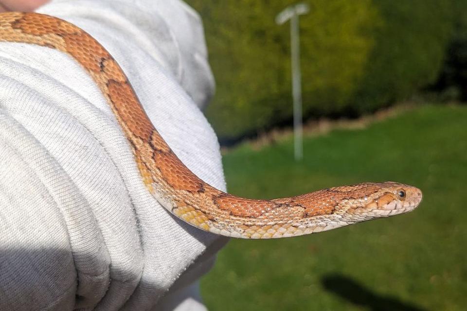
{"type": "Polygon", "coordinates": [[[359,307],[372,311],[426,311],[395,297],[373,293],[357,281],[342,275],[332,274],[321,278],[323,288],[359,307]]]}

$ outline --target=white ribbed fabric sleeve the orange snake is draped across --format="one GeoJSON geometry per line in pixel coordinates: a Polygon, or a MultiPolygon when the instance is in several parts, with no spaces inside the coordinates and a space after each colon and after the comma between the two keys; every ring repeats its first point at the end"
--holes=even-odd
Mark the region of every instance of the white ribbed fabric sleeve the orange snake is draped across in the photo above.
{"type": "MultiPolygon", "coordinates": [[[[182,161],[225,189],[198,108],[213,80],[191,9],[55,0],[38,12],[98,39],[182,161]]],[[[201,310],[191,284],[225,240],[176,220],[145,189],[90,77],[61,52],[14,43],[0,44],[0,73],[0,309],[201,310]]]]}

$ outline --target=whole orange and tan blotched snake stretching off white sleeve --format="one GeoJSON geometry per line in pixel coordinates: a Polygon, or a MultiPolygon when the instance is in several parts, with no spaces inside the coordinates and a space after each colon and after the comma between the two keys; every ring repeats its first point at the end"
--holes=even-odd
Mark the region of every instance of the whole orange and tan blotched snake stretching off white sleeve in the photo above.
{"type": "Polygon", "coordinates": [[[178,218],[235,238],[281,238],[413,210],[422,193],[395,182],[361,183],[294,197],[255,200],[208,185],[174,154],[152,125],[112,56],[80,28],[36,13],[0,14],[0,41],[36,44],[71,55],[107,99],[146,188],[178,218]]]}

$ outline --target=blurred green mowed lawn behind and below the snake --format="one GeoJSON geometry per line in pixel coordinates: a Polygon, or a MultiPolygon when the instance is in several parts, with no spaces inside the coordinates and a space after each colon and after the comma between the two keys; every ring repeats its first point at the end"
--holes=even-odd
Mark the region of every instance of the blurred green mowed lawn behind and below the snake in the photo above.
{"type": "Polygon", "coordinates": [[[419,187],[414,212],[279,240],[232,240],[201,281],[212,311],[466,310],[467,106],[224,156],[228,190],[273,198],[364,181],[419,187]]]}

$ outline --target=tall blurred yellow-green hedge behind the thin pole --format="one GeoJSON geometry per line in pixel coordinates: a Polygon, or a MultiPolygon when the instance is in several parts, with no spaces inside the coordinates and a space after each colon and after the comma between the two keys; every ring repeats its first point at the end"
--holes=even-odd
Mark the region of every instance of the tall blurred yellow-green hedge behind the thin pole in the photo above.
{"type": "MultiPolygon", "coordinates": [[[[221,141],[291,119],[287,0],[187,0],[203,18],[217,90],[206,115],[221,141]]],[[[451,2],[313,0],[300,17],[305,117],[373,111],[431,83],[451,2]]]]}

